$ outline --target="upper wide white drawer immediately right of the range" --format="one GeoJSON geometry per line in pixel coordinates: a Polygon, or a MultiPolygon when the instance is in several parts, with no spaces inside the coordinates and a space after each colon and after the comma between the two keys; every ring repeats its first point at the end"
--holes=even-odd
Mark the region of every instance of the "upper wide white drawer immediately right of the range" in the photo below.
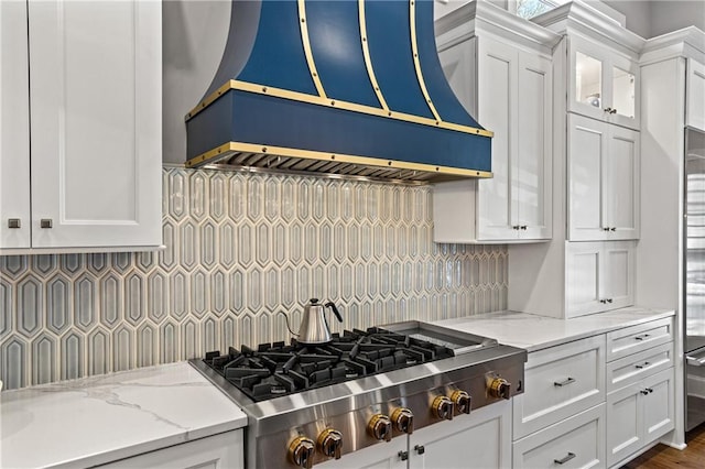
{"type": "Polygon", "coordinates": [[[529,353],[524,392],[513,401],[519,439],[605,401],[605,336],[529,353]]]}

